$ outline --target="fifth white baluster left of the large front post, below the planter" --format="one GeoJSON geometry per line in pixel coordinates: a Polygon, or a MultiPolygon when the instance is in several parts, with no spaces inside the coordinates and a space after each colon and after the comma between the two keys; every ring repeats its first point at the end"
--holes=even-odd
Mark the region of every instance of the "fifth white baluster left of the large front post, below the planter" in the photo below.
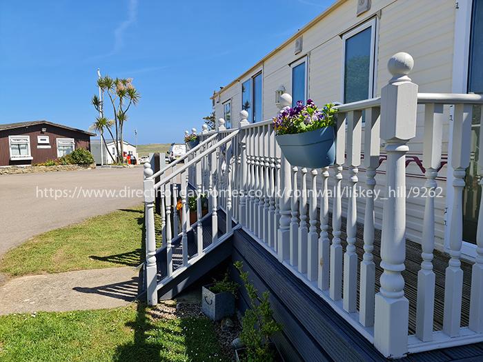
{"type": "MultiPolygon", "coordinates": [[[[302,170],[303,174],[304,170],[302,170]]],[[[316,281],[318,276],[318,237],[317,234],[317,170],[315,168],[311,171],[311,208],[308,211],[311,227],[308,232],[307,241],[307,279],[309,281],[316,281]]],[[[300,252],[300,250],[299,250],[300,252]]]]}

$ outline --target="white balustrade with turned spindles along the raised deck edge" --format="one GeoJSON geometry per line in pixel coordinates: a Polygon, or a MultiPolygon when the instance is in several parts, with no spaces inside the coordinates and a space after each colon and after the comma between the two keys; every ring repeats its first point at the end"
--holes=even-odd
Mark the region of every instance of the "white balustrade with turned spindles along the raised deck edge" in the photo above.
{"type": "MultiPolygon", "coordinates": [[[[483,212],[480,212],[478,220],[477,258],[472,270],[470,322],[469,327],[460,327],[463,178],[470,160],[473,105],[481,106],[483,97],[475,94],[418,93],[417,85],[408,77],[412,67],[413,59],[408,54],[396,54],[388,64],[393,77],[382,88],[381,97],[337,107],[336,156],[332,175],[329,168],[315,170],[291,166],[275,141],[272,121],[249,124],[246,111],[240,112],[242,121],[238,130],[225,130],[224,121],[219,120],[216,132],[208,132],[204,128],[200,134],[205,140],[213,137],[212,133],[218,134],[220,139],[233,140],[226,148],[229,149],[226,158],[220,148],[221,143],[213,144],[216,139],[210,138],[203,146],[206,149],[203,153],[175,172],[179,174],[196,164],[198,192],[202,170],[206,175],[202,185],[210,194],[216,190],[230,191],[217,198],[210,197],[213,217],[216,217],[217,201],[230,215],[227,220],[231,219],[233,210],[233,219],[248,234],[331,305],[355,330],[374,343],[384,356],[391,358],[483,341],[483,212]],[[424,105],[423,166],[426,169],[424,185],[428,197],[422,226],[423,262],[417,281],[416,332],[408,336],[409,302],[404,296],[401,274],[406,260],[405,155],[411,148],[411,140],[416,137],[418,104],[424,105]],[[453,145],[451,167],[455,177],[455,200],[449,221],[451,259],[444,287],[444,323],[442,331],[433,332],[434,190],[441,165],[444,105],[454,105],[453,132],[449,137],[453,145]],[[382,172],[385,174],[385,199],[380,249],[383,274],[380,290],[376,290],[373,191],[380,168],[382,144],[386,152],[382,172]],[[359,215],[359,220],[364,220],[364,256],[357,265],[355,244],[359,201],[355,190],[362,187],[358,185],[361,164],[366,179],[364,214],[359,215]],[[341,193],[344,168],[348,169],[346,181],[351,190],[346,198],[341,193]],[[333,183],[335,190],[331,203],[329,183],[333,183]],[[295,193],[296,190],[299,194],[295,193]],[[343,203],[347,205],[345,252],[341,244],[343,203]],[[317,232],[317,207],[320,210],[320,233],[317,232]],[[332,237],[328,232],[329,214],[332,214],[332,237]],[[359,292],[357,279],[360,280],[359,292]]],[[[228,141],[223,142],[228,144],[228,141]]],[[[479,162],[483,175],[483,137],[480,138],[479,162]]],[[[181,187],[184,186],[181,184],[181,187]]],[[[149,257],[148,252],[148,260],[149,257]]]]}

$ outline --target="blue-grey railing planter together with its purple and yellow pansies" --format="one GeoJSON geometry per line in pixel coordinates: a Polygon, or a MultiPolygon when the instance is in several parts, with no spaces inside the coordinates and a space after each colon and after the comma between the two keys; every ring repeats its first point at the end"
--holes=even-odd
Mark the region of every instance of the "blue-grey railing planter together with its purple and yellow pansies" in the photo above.
{"type": "Polygon", "coordinates": [[[311,99],[307,105],[297,102],[295,108],[282,109],[273,118],[275,139],[290,165],[325,168],[335,161],[333,104],[319,110],[311,99]]]}

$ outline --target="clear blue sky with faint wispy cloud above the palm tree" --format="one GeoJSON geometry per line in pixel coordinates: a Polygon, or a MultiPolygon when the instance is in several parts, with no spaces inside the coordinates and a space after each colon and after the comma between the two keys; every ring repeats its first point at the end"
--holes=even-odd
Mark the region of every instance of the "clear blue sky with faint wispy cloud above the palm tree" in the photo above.
{"type": "MultiPolygon", "coordinates": [[[[333,0],[0,1],[0,123],[87,130],[97,68],[133,78],[124,139],[181,141],[226,86],[333,0]]],[[[112,118],[112,114],[106,116],[112,118]]]]}

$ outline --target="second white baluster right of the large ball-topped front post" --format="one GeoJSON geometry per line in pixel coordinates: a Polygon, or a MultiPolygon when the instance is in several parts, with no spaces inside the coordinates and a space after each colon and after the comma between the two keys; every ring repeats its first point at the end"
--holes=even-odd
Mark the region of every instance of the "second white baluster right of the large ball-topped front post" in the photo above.
{"type": "Polygon", "coordinates": [[[449,266],[446,268],[444,285],[444,317],[443,332],[451,337],[460,335],[461,303],[463,292],[463,270],[461,269],[461,247],[463,239],[462,196],[466,168],[470,164],[471,118],[473,105],[455,104],[455,121],[453,123],[453,151],[451,167],[455,180],[455,200],[451,215],[451,231],[449,234],[449,266]]]}

